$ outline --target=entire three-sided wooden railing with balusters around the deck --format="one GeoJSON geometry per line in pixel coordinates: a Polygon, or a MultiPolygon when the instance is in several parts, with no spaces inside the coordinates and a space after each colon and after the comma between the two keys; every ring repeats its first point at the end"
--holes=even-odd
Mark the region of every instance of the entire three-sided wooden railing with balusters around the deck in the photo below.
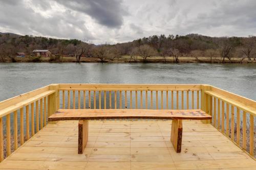
{"type": "Polygon", "coordinates": [[[202,109],[213,116],[204,123],[254,155],[256,102],[242,96],[210,85],[52,84],[0,102],[0,161],[59,108],[202,109]]]}

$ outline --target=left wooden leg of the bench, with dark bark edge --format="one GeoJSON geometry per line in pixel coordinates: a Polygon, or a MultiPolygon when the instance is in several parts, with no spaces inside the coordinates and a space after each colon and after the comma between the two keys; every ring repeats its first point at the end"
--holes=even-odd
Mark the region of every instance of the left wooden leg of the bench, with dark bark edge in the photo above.
{"type": "Polygon", "coordinates": [[[82,154],[88,141],[89,120],[79,120],[78,122],[78,154],[82,154]]]}

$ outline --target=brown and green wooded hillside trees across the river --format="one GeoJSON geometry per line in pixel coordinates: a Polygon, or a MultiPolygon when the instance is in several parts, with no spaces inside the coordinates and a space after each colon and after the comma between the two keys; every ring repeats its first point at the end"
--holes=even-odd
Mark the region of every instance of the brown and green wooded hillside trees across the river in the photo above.
{"type": "Polygon", "coordinates": [[[118,60],[121,56],[130,56],[130,62],[143,62],[153,56],[161,56],[164,61],[172,57],[179,62],[180,57],[191,56],[196,60],[206,57],[209,61],[239,58],[255,60],[256,37],[209,37],[198,34],[185,36],[162,34],[139,38],[131,42],[117,44],[101,44],[80,41],[77,39],[54,39],[46,37],[20,36],[16,34],[0,34],[0,58],[13,58],[17,52],[32,55],[35,49],[48,49],[57,56],[75,57],[80,62],[82,56],[98,58],[100,62],[118,60]]]}

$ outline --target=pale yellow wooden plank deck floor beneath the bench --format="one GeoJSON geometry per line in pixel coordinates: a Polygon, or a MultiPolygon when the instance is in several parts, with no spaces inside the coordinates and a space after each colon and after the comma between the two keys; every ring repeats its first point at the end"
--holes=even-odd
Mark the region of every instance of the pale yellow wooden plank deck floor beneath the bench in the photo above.
{"type": "Polygon", "coordinates": [[[256,161],[200,120],[184,120],[182,151],[170,143],[172,120],[91,120],[77,154],[78,121],[48,124],[0,169],[256,169],[256,161]]]}

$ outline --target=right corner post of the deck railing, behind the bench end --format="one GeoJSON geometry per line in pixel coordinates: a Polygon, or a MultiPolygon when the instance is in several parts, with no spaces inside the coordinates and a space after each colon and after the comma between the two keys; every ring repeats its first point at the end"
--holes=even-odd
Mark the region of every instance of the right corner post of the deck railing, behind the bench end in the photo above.
{"type": "MultiPolygon", "coordinates": [[[[210,110],[210,98],[208,98],[205,91],[210,90],[211,86],[207,84],[201,85],[201,110],[205,111],[205,113],[209,114],[210,110]]],[[[204,124],[209,124],[210,120],[201,120],[204,124]]]]}

